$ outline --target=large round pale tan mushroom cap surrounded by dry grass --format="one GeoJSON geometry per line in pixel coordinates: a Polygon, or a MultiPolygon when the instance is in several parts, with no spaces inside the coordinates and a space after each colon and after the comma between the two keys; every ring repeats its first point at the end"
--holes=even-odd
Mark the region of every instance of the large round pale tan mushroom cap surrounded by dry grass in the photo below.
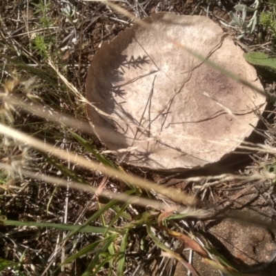
{"type": "Polygon", "coordinates": [[[161,12],[144,23],[152,28],[135,23],[92,60],[86,93],[95,134],[136,166],[185,170],[219,161],[250,135],[266,99],[171,39],[262,89],[255,69],[208,17],[161,12]]]}

